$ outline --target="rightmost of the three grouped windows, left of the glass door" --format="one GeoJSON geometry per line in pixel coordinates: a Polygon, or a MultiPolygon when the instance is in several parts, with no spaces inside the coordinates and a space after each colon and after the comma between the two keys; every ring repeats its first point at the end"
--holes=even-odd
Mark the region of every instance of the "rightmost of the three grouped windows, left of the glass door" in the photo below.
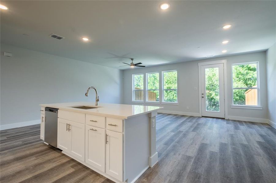
{"type": "Polygon", "coordinates": [[[177,71],[162,72],[163,102],[177,103],[177,71]]]}

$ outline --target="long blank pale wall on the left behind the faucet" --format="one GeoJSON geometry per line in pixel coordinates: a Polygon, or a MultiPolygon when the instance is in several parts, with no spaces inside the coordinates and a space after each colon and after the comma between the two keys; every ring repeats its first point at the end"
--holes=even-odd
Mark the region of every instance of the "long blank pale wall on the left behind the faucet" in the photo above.
{"type": "Polygon", "coordinates": [[[94,91],[85,97],[89,86],[97,88],[99,103],[122,103],[122,74],[118,69],[1,44],[1,128],[36,122],[39,104],[94,102],[94,91]]]}

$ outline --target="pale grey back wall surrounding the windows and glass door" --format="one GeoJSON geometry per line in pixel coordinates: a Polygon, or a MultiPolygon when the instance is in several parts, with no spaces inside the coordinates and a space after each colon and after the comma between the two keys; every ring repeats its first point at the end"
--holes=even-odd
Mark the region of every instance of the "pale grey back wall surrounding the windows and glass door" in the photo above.
{"type": "MultiPolygon", "coordinates": [[[[194,90],[194,87],[198,88],[198,63],[227,59],[227,99],[228,99],[228,116],[230,117],[249,117],[260,118],[261,122],[265,122],[267,119],[267,84],[266,84],[266,53],[255,52],[236,56],[226,56],[213,59],[205,59],[200,61],[191,61],[183,63],[175,63],[161,66],[152,66],[139,69],[124,70],[124,103],[132,103],[132,74],[146,74],[148,72],[159,72],[165,70],[177,70],[178,71],[178,102],[179,105],[161,105],[161,104],[144,104],[153,106],[163,106],[164,110],[177,111],[187,115],[199,115],[199,96],[198,90],[194,90]],[[259,74],[260,74],[260,103],[263,107],[259,109],[233,109],[230,107],[232,101],[232,84],[231,84],[231,64],[259,61],[259,74]],[[189,106],[189,109],[186,107],[189,106]]],[[[145,76],[144,76],[145,77],[145,76]]],[[[160,81],[161,82],[161,81],[160,81]]],[[[136,103],[137,105],[143,105],[136,103]]],[[[243,118],[244,119],[244,118],[243,118]]]]}

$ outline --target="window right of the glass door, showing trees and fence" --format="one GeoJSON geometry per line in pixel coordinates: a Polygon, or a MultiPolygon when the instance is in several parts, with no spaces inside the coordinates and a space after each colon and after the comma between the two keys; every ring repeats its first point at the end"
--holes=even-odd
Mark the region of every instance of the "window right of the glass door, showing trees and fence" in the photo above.
{"type": "Polygon", "coordinates": [[[232,64],[233,105],[259,106],[259,62],[232,64]]]}

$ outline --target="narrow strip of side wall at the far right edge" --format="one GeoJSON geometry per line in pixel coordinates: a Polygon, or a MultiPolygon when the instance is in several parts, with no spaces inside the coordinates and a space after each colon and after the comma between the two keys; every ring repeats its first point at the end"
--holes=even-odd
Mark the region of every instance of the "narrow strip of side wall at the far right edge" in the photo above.
{"type": "Polygon", "coordinates": [[[267,105],[270,125],[276,128],[276,43],[267,50],[267,105]]]}

